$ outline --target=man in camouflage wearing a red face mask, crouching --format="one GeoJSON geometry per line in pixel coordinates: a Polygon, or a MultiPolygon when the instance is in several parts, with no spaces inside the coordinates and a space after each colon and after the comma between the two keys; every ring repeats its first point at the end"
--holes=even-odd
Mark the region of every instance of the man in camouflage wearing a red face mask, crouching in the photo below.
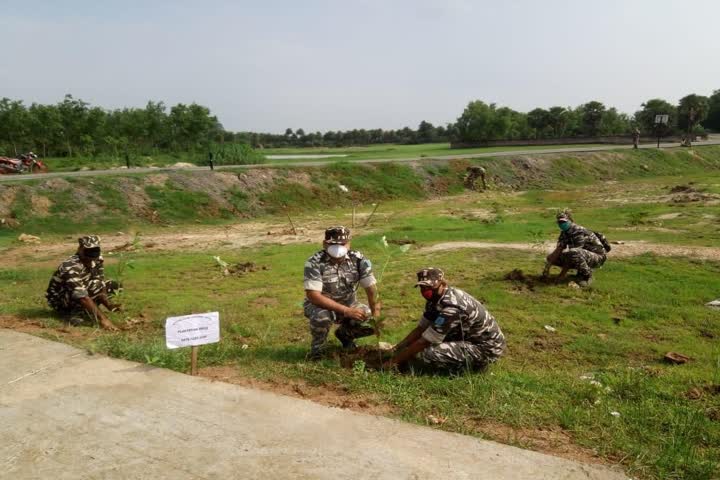
{"type": "Polygon", "coordinates": [[[417,327],[394,348],[385,363],[459,373],[483,370],[505,351],[505,336],[482,303],[448,286],[438,268],[417,272],[420,293],[427,300],[417,327]]]}

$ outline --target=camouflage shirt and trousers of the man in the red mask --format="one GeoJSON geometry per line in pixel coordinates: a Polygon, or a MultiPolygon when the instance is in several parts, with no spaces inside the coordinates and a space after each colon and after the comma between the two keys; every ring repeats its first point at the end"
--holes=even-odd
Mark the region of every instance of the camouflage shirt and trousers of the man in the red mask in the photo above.
{"type": "Polygon", "coordinates": [[[418,326],[432,343],[418,354],[422,366],[480,370],[505,351],[505,336],[495,318],[467,292],[447,287],[437,302],[428,300],[418,326]]]}

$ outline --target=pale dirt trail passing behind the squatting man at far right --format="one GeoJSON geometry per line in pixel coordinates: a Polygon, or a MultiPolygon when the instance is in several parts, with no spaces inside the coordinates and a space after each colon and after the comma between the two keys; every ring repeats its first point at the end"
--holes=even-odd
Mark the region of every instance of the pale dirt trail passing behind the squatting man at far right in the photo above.
{"type": "MultiPolygon", "coordinates": [[[[422,253],[440,252],[443,250],[458,250],[461,248],[475,249],[510,249],[524,251],[543,251],[550,252],[555,244],[545,243],[541,247],[532,243],[494,243],[494,242],[443,242],[431,245],[429,247],[418,250],[422,253]]],[[[613,245],[610,257],[625,258],[642,255],[644,253],[653,253],[664,257],[691,257],[702,260],[720,261],[720,248],[716,247],[694,247],[684,245],[666,245],[659,243],[648,243],[645,241],[627,241],[621,245],[613,245]]]]}

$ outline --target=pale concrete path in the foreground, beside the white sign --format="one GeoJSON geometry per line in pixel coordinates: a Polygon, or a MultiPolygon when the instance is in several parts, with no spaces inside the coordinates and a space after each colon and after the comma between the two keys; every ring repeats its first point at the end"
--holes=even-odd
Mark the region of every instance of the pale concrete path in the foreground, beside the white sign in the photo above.
{"type": "Polygon", "coordinates": [[[0,329],[0,477],[623,479],[0,329]]]}

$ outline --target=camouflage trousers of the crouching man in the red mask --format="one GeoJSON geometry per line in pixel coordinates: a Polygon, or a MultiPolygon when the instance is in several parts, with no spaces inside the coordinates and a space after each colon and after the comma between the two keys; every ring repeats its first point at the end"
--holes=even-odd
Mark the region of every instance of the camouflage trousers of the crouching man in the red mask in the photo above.
{"type": "Polygon", "coordinates": [[[459,373],[463,370],[483,370],[497,359],[496,355],[489,355],[470,342],[443,342],[418,353],[410,366],[420,370],[459,373]]]}

